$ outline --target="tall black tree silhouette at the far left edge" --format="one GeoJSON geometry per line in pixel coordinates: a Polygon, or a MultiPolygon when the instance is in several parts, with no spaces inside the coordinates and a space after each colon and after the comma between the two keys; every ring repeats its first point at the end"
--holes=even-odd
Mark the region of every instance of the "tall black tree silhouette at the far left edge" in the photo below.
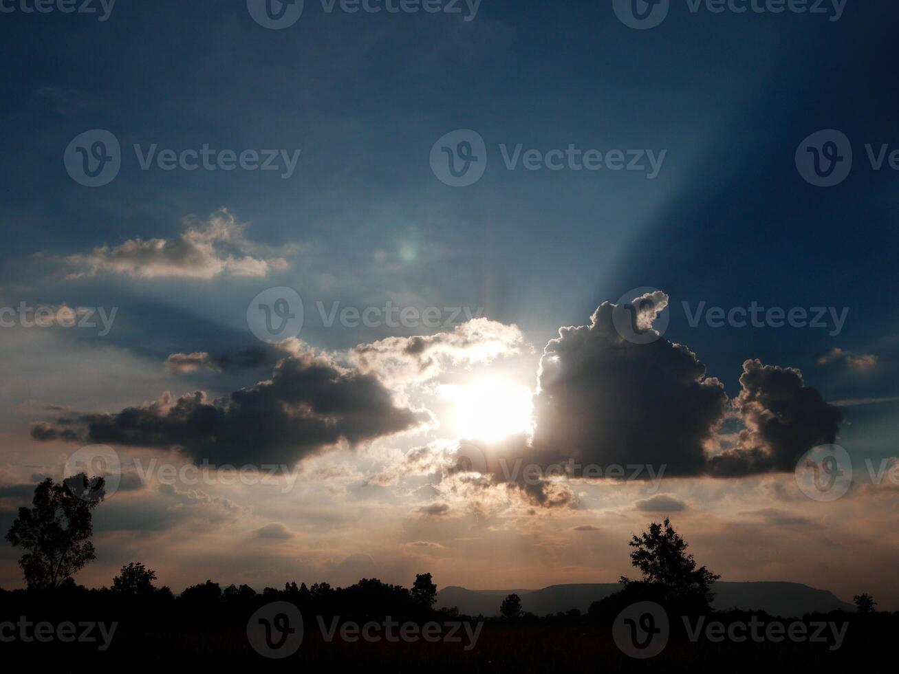
{"type": "Polygon", "coordinates": [[[29,590],[57,588],[96,559],[91,511],[106,494],[102,477],[84,473],[34,489],[33,508],[20,508],[6,540],[28,552],[19,559],[29,590]]]}

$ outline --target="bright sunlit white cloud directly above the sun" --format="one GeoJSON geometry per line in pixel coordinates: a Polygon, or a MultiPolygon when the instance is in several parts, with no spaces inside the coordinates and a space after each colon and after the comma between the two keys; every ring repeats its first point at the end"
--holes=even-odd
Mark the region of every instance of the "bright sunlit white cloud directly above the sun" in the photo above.
{"type": "Polygon", "coordinates": [[[448,366],[489,363],[530,350],[517,325],[475,318],[451,333],[416,337],[388,337],[360,344],[350,351],[362,372],[388,382],[412,383],[438,377],[448,366]]]}

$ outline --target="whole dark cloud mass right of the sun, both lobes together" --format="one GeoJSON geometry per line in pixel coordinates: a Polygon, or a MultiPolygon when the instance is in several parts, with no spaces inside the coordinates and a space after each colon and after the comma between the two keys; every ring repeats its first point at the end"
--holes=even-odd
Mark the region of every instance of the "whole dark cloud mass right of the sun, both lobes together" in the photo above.
{"type": "MultiPolygon", "coordinates": [[[[653,299],[661,306],[666,296],[653,299]]],[[[483,446],[483,466],[475,471],[481,481],[470,483],[504,483],[533,505],[574,508],[574,492],[564,480],[552,479],[552,466],[561,466],[569,478],[583,478],[585,466],[653,466],[666,477],[739,477],[792,471],[807,450],[835,441],[841,410],[806,386],[799,370],[746,360],[742,391],[729,401],[721,382],[706,376],[705,365],[687,347],[661,335],[649,343],[622,338],[612,319],[615,309],[604,303],[590,325],[562,328],[547,343],[533,436],[483,446]],[[549,479],[511,474],[509,466],[521,458],[549,479]]],[[[647,319],[636,327],[648,331],[652,324],[647,319]]],[[[472,445],[463,443],[457,459],[464,446],[472,445]]],[[[466,472],[471,473],[458,466],[448,470],[466,472]]],[[[643,472],[642,479],[650,477],[643,472]]]]}

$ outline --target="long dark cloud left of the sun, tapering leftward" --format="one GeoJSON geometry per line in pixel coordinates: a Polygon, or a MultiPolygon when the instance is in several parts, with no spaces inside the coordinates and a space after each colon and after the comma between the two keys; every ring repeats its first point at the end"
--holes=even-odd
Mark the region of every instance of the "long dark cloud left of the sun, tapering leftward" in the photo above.
{"type": "Polygon", "coordinates": [[[34,439],[166,448],[213,465],[285,464],[330,448],[414,428],[423,413],[398,407],[376,377],[312,350],[281,359],[271,378],[217,399],[197,391],[120,412],[32,426],[34,439]]]}

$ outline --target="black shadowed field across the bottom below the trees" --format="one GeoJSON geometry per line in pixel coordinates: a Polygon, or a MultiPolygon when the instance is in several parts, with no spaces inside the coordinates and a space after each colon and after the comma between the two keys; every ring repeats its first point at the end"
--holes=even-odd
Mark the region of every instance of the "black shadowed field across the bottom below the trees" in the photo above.
{"type": "MultiPolygon", "coordinates": [[[[72,598],[75,599],[75,598],[72,598]]],[[[591,616],[523,617],[517,623],[488,619],[470,650],[461,632],[460,643],[388,643],[380,640],[347,643],[339,635],[329,643],[315,618],[304,615],[302,644],[282,660],[255,652],[247,638],[247,621],[263,601],[245,606],[189,606],[180,599],[152,601],[143,606],[90,609],[65,600],[55,606],[28,600],[23,592],[4,593],[0,622],[26,616],[58,625],[65,621],[119,623],[107,650],[97,643],[0,644],[4,661],[34,662],[60,671],[98,671],[127,667],[133,671],[370,671],[370,672],[760,672],[771,671],[893,671],[892,638],[895,617],[890,614],[806,616],[809,620],[842,622],[850,626],[841,647],[828,643],[691,643],[672,625],[671,639],[657,656],[636,660],[619,651],[610,624],[591,624],[591,616]],[[43,604],[43,607],[41,607],[43,604]],[[211,608],[211,610],[210,610],[211,608]]],[[[728,622],[746,615],[716,614],[709,619],[728,622]]],[[[371,614],[349,618],[360,624],[381,620],[371,614]]],[[[419,624],[432,620],[472,620],[446,613],[408,618],[419,624]]],[[[331,625],[333,618],[325,620],[331,625]]],[[[445,632],[445,631],[444,631],[445,632]]],[[[11,634],[7,627],[4,636],[11,634]]],[[[18,634],[18,633],[16,633],[18,634]]],[[[32,628],[33,634],[33,628],[32,628]]],[[[94,630],[93,635],[99,637],[94,630]]]]}

